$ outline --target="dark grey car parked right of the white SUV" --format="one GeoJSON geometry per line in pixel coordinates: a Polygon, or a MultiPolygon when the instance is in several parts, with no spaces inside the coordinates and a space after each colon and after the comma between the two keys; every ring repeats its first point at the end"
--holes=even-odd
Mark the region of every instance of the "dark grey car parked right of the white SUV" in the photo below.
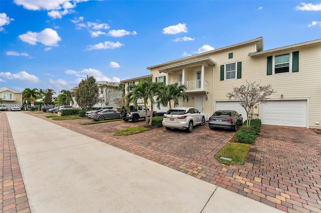
{"type": "Polygon", "coordinates": [[[242,114],[234,110],[217,110],[209,118],[210,128],[225,128],[237,130],[243,124],[242,114]]]}

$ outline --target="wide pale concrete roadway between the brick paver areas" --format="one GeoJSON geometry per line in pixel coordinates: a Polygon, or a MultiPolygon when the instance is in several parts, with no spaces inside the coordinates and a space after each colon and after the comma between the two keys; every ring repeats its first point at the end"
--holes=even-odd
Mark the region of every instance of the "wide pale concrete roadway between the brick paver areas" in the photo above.
{"type": "Polygon", "coordinates": [[[281,212],[24,112],[7,116],[32,212],[281,212]]]}

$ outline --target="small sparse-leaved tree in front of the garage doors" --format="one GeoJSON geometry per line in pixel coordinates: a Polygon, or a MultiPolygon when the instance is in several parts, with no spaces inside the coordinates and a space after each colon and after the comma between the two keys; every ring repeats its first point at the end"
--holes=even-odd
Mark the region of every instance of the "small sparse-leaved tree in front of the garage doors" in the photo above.
{"type": "Polygon", "coordinates": [[[227,96],[229,98],[234,98],[240,101],[241,106],[245,109],[247,119],[246,126],[250,127],[252,109],[255,105],[259,103],[266,102],[269,95],[273,94],[273,90],[270,84],[266,86],[261,86],[259,83],[255,84],[254,82],[246,81],[246,85],[241,85],[240,87],[234,87],[233,92],[228,92],[227,96]]]}

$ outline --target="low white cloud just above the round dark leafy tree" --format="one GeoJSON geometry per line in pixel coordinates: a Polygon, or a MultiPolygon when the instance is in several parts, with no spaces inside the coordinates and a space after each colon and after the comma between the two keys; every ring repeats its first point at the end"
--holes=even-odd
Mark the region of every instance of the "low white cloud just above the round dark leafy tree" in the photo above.
{"type": "MultiPolygon", "coordinates": [[[[101,71],[97,70],[97,69],[92,69],[92,68],[88,68],[88,69],[83,69],[81,71],[75,71],[75,70],[66,70],[65,71],[66,74],[74,74],[76,75],[76,77],[79,77],[81,79],[84,79],[88,76],[94,76],[96,78],[96,80],[107,80],[107,81],[114,81],[114,82],[119,82],[120,78],[118,77],[107,77],[105,76],[101,71]]],[[[80,82],[80,80],[79,80],[80,82]]],[[[79,83],[78,82],[78,83],[79,83]]],[[[77,83],[77,84],[78,84],[77,83]]]]}

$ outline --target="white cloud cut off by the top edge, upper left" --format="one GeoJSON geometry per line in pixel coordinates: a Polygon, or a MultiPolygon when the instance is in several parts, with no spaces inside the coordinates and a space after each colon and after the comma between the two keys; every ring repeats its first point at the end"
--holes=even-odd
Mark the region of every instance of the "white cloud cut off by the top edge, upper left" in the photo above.
{"type": "Polygon", "coordinates": [[[62,18],[63,15],[74,13],[76,3],[82,1],[87,0],[14,0],[14,3],[29,10],[48,10],[48,16],[62,18]]]}

